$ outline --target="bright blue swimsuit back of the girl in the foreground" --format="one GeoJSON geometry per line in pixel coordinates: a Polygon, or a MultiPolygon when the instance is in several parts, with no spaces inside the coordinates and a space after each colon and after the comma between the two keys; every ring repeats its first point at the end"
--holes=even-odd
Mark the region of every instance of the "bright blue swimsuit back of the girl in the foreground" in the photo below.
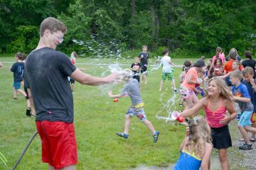
{"type": "Polygon", "coordinates": [[[182,150],[174,170],[199,170],[201,163],[202,159],[182,150]]]}

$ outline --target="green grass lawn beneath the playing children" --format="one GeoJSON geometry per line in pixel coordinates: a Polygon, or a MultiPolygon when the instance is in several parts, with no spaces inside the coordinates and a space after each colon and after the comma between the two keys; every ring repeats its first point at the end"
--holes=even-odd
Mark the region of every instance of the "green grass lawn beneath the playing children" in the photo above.
{"type": "MultiPolygon", "coordinates": [[[[18,95],[13,99],[13,74],[9,72],[10,62],[14,58],[0,58],[4,67],[0,69],[0,152],[7,159],[7,166],[1,162],[0,169],[11,169],[16,163],[24,147],[36,131],[35,118],[26,116],[26,100],[18,95]]],[[[117,60],[122,64],[131,64],[132,60],[117,60]]],[[[174,59],[175,64],[183,64],[184,60],[174,59]]],[[[92,60],[79,58],[78,63],[113,63],[115,60],[92,60]]],[[[101,77],[102,72],[109,70],[107,65],[78,64],[85,72],[101,77]]],[[[129,68],[129,66],[122,66],[129,68]]],[[[151,67],[152,68],[152,67],[151,67]]],[[[150,70],[150,69],[149,69],[150,70]]],[[[175,68],[176,85],[181,68],[175,68]]],[[[169,166],[178,159],[178,147],[185,135],[185,127],[171,125],[165,120],[156,119],[155,115],[164,104],[174,95],[170,89],[170,81],[164,84],[164,91],[159,91],[161,69],[149,72],[148,84],[141,84],[142,99],[145,103],[147,118],[159,130],[159,141],[154,143],[149,130],[137,118],[132,119],[130,137],[124,140],[115,135],[122,132],[124,127],[124,113],[129,108],[129,98],[120,98],[114,103],[107,96],[112,89],[119,93],[124,84],[116,86],[84,86],[75,84],[73,92],[75,106],[75,131],[78,142],[78,169],[130,169],[140,164],[147,166],[169,166]],[[168,88],[166,90],[166,88],[168,88]]],[[[178,109],[179,97],[171,102],[171,110],[178,109]]],[[[159,113],[167,116],[166,109],[159,113]]],[[[37,135],[28,148],[17,169],[47,169],[47,164],[41,163],[41,142],[37,135]]]]}

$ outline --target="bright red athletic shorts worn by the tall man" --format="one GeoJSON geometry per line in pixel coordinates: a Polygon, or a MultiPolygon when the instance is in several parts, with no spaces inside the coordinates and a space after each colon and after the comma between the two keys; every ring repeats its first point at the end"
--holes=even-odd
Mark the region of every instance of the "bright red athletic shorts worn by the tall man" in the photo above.
{"type": "Polygon", "coordinates": [[[78,164],[78,150],[73,123],[36,121],[41,137],[42,162],[62,169],[78,164]]]}

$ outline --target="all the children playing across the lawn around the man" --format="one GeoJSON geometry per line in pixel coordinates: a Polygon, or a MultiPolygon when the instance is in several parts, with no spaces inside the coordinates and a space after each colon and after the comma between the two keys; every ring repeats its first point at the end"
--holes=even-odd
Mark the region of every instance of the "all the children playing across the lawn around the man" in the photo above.
{"type": "MultiPolygon", "coordinates": [[[[112,94],[112,91],[109,91],[108,96],[121,98],[128,95],[132,101],[132,105],[129,106],[125,114],[124,131],[117,132],[119,137],[124,137],[124,139],[129,137],[131,118],[136,115],[149,129],[154,142],[157,142],[159,131],[155,130],[151,122],[146,119],[144,103],[139,89],[139,72],[142,73],[142,83],[146,84],[147,82],[146,73],[150,60],[146,50],[146,45],[144,45],[139,57],[134,58],[131,69],[124,69],[123,72],[119,73],[122,80],[126,81],[120,94],[112,94]]],[[[184,62],[183,72],[180,76],[179,93],[182,102],[185,104],[185,109],[181,112],[181,116],[183,118],[193,116],[193,118],[188,120],[186,137],[180,147],[181,155],[174,169],[209,169],[210,154],[213,147],[218,149],[222,169],[230,169],[228,147],[232,146],[232,141],[228,123],[238,115],[233,101],[238,103],[242,112],[238,129],[245,143],[239,149],[252,149],[251,142],[255,141],[256,133],[256,116],[252,116],[255,115],[256,110],[256,80],[253,79],[255,70],[251,67],[242,69],[237,54],[235,50],[230,51],[228,62],[225,62],[224,67],[225,55],[220,47],[216,49],[216,55],[213,59],[208,60],[207,66],[204,62],[205,57],[201,57],[194,64],[188,60],[184,62]],[[242,72],[240,69],[242,69],[242,72]],[[244,80],[242,81],[242,79],[244,80]],[[200,84],[205,84],[203,91],[200,84]],[[232,88],[228,86],[232,86],[232,88]],[[203,96],[200,100],[197,97],[199,93],[203,96]],[[206,119],[198,115],[198,111],[201,109],[204,110],[206,119]],[[252,123],[254,124],[252,125],[252,123]],[[247,132],[252,132],[253,137],[249,138],[247,132]]],[[[162,90],[166,78],[173,82],[174,91],[178,91],[175,86],[174,69],[171,68],[169,51],[164,50],[163,55],[164,57],[161,58],[163,69],[159,91],[162,90]]],[[[11,72],[14,72],[14,99],[16,99],[17,92],[28,98],[28,94],[21,90],[24,69],[23,58],[22,53],[17,53],[17,62],[11,67],[11,72]]],[[[73,54],[71,61],[74,58],[73,54]]]]}

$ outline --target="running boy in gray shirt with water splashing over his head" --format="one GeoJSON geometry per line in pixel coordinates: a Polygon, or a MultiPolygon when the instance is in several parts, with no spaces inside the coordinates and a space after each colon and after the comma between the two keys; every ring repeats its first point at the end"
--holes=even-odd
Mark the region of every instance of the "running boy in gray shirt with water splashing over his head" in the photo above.
{"type": "Polygon", "coordinates": [[[128,93],[132,101],[132,106],[129,107],[127,113],[125,114],[124,132],[117,132],[117,135],[119,137],[124,137],[125,139],[129,137],[131,118],[136,115],[137,118],[139,118],[139,120],[141,120],[142,123],[144,123],[144,125],[146,125],[146,127],[150,130],[154,137],[154,142],[157,142],[159,132],[156,131],[151,122],[146,119],[146,114],[144,112],[144,103],[139,92],[139,82],[136,79],[132,79],[132,72],[129,69],[124,69],[120,76],[122,76],[122,79],[126,81],[124,89],[122,89],[120,94],[116,95],[112,94],[112,91],[109,91],[108,96],[110,96],[111,98],[121,98],[126,93],[128,93]]]}

